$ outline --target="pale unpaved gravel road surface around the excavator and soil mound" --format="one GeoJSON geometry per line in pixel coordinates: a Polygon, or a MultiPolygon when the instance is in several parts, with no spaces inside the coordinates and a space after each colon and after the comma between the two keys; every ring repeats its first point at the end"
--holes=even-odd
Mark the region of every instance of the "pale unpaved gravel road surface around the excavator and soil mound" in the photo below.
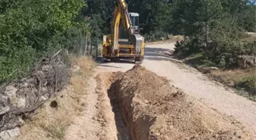
{"type": "MultiPolygon", "coordinates": [[[[238,96],[231,89],[217,84],[197,72],[194,68],[175,61],[168,54],[174,48],[173,43],[146,45],[146,58],[142,66],[165,76],[179,89],[203,101],[209,107],[223,114],[234,117],[246,129],[251,131],[256,139],[256,104],[247,98],[238,96]]],[[[126,71],[130,70],[132,63],[104,63],[99,64],[98,71],[126,71]]]]}

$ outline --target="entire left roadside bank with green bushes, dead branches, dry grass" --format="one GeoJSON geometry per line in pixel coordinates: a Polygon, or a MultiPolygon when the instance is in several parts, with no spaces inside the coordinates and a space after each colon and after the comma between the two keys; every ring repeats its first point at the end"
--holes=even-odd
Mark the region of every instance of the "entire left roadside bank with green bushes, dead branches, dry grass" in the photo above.
{"type": "Polygon", "coordinates": [[[94,18],[82,14],[87,6],[84,0],[0,1],[0,105],[7,108],[1,139],[17,136],[23,125],[24,139],[62,139],[85,108],[95,64],[82,54],[85,35],[97,32],[94,18]]]}

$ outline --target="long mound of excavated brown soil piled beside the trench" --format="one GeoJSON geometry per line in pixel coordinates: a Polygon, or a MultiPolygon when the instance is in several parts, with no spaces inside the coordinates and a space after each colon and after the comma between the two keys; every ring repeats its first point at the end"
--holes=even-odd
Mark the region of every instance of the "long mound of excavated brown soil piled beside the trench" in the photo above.
{"type": "Polygon", "coordinates": [[[109,92],[117,95],[133,140],[252,139],[239,123],[144,67],[115,75],[109,92]]]}

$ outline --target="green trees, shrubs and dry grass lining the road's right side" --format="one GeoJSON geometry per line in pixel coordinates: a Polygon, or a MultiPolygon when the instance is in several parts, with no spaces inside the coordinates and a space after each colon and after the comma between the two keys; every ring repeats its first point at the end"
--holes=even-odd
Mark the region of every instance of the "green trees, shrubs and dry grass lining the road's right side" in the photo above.
{"type": "Polygon", "coordinates": [[[190,7],[190,16],[184,11],[187,39],[176,43],[174,54],[198,70],[218,67],[208,71],[213,79],[247,91],[242,95],[255,101],[256,6],[242,1],[205,2],[185,4],[197,6],[190,7]],[[244,64],[238,64],[238,56],[245,56],[244,64]]]}

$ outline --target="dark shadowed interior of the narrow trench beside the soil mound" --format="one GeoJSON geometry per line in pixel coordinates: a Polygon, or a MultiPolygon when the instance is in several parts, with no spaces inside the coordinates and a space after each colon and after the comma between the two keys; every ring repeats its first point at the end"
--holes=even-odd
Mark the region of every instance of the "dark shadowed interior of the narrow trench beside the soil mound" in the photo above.
{"type": "Polygon", "coordinates": [[[132,140],[129,128],[126,126],[125,120],[123,119],[117,96],[114,94],[111,88],[107,90],[107,95],[108,98],[110,98],[110,104],[112,106],[112,111],[114,112],[118,140],[132,140]]]}

